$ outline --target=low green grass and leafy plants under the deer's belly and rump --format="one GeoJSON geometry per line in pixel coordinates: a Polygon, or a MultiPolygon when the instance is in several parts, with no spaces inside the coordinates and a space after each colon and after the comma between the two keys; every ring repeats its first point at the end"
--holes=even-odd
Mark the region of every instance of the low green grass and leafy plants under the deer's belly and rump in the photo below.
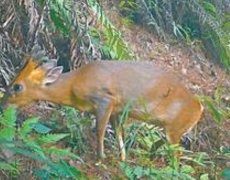
{"type": "Polygon", "coordinates": [[[127,131],[128,155],[135,160],[120,163],[120,168],[128,179],[219,179],[220,176],[228,176],[228,170],[223,171],[223,168],[220,168],[224,160],[230,157],[226,149],[220,149],[211,155],[206,152],[188,151],[165,141],[162,146],[154,149],[152,156],[151,145],[159,140],[159,129],[146,124],[136,124],[127,131]],[[174,156],[178,151],[183,152],[180,162],[174,156]],[[153,157],[153,160],[150,160],[150,157],[153,157]]]}

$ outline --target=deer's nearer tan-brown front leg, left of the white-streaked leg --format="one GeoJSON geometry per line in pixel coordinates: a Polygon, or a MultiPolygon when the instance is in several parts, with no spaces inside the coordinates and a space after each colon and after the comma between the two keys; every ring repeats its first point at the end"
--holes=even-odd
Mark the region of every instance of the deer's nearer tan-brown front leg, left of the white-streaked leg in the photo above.
{"type": "Polygon", "coordinates": [[[106,125],[109,122],[113,110],[113,103],[109,98],[103,98],[99,101],[96,110],[96,129],[97,129],[97,154],[100,159],[105,158],[104,137],[106,125]]]}

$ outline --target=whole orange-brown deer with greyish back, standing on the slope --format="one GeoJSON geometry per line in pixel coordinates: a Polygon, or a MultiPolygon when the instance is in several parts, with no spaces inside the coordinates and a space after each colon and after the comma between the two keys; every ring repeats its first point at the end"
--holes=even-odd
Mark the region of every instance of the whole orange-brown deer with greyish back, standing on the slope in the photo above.
{"type": "MultiPolygon", "coordinates": [[[[11,84],[7,102],[24,106],[47,100],[69,105],[96,115],[97,153],[104,157],[104,135],[109,121],[117,123],[124,106],[132,103],[130,117],[161,124],[170,143],[200,119],[203,108],[199,101],[169,72],[151,63],[98,61],[76,71],[61,74],[55,62],[40,67],[32,60],[11,84]],[[35,68],[36,67],[36,68],[35,68]],[[22,86],[17,90],[16,85],[22,86]],[[145,118],[146,114],[151,115],[145,118]]],[[[122,131],[117,128],[121,158],[125,159],[122,131]]]]}

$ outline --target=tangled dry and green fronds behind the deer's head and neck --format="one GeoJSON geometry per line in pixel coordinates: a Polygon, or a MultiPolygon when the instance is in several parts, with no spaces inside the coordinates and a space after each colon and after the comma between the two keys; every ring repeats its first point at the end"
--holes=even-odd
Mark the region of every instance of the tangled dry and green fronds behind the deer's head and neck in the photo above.
{"type": "Polygon", "coordinates": [[[133,57],[97,1],[3,0],[0,11],[0,80],[5,84],[34,46],[60,59],[66,70],[95,59],[133,57]]]}

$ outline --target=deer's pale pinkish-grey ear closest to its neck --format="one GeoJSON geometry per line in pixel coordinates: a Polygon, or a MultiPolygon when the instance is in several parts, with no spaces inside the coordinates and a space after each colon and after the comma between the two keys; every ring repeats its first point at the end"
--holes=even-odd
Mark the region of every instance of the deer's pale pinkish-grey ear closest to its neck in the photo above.
{"type": "Polygon", "coordinates": [[[62,66],[58,66],[53,69],[50,69],[48,73],[46,74],[46,76],[44,77],[42,84],[49,85],[49,84],[54,83],[60,77],[60,75],[62,74],[62,71],[63,71],[62,66]]]}

